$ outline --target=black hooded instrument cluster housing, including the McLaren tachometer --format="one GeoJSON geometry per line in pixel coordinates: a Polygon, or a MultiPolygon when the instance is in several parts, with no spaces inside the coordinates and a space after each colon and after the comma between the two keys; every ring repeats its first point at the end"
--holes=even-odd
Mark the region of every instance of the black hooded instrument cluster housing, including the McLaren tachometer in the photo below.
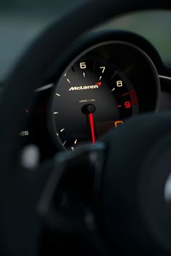
{"type": "Polygon", "coordinates": [[[36,144],[41,160],[96,143],[135,115],[171,110],[170,67],[145,38],[124,30],[82,36],[60,77],[51,77],[25,104],[17,147],[36,144]]]}

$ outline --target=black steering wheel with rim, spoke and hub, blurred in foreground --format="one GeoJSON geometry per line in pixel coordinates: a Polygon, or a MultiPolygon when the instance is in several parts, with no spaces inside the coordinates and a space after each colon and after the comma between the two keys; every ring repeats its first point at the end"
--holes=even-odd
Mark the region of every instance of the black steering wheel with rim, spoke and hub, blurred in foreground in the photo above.
{"type": "Polygon", "coordinates": [[[171,2],[81,1],[36,39],[12,71],[0,100],[1,255],[39,255],[45,219],[57,231],[89,237],[101,255],[171,255],[170,200],[164,197],[170,113],[132,118],[96,146],[59,154],[34,170],[20,166],[15,148],[25,102],[33,107],[33,91],[51,75],[62,75],[76,38],[116,15],[161,8],[170,9],[171,2]],[[63,192],[81,203],[77,218],[62,208],[63,192]]]}

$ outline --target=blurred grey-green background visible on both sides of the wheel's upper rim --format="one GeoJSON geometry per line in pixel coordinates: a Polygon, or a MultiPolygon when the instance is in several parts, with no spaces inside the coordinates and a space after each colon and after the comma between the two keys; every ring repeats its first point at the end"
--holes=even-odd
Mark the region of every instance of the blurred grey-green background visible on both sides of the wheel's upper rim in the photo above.
{"type": "MultiPolygon", "coordinates": [[[[81,0],[1,0],[0,81],[4,80],[28,47],[60,12],[81,0]]],[[[171,65],[171,12],[138,12],[117,17],[97,30],[121,28],[146,37],[165,64],[171,65]]]]}

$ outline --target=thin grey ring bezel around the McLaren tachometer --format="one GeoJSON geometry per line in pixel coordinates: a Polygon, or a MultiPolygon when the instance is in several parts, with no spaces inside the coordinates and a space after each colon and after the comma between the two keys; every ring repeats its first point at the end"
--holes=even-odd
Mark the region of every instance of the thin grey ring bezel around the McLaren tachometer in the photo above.
{"type": "MultiPolygon", "coordinates": [[[[134,34],[130,33],[130,35],[133,36],[134,34]]],[[[114,36],[116,36],[116,34],[114,36]]],[[[95,38],[95,41],[96,41],[96,39],[97,38],[95,38]]],[[[85,56],[86,54],[90,53],[94,49],[97,49],[101,46],[107,46],[107,45],[112,45],[112,44],[123,44],[123,45],[126,45],[126,46],[130,46],[131,48],[135,49],[135,51],[138,51],[139,54],[141,54],[143,57],[146,58],[146,61],[149,62],[149,66],[151,67],[151,71],[154,74],[156,89],[157,89],[157,99],[156,99],[156,105],[155,105],[153,111],[157,111],[158,108],[159,108],[159,98],[160,98],[161,88],[160,88],[160,81],[159,81],[159,75],[158,75],[158,72],[157,72],[157,67],[154,65],[154,62],[152,61],[151,57],[149,57],[149,55],[146,54],[146,52],[143,51],[143,49],[136,46],[135,44],[131,44],[130,42],[128,42],[126,40],[125,41],[124,40],[120,41],[120,40],[116,40],[116,39],[113,40],[112,39],[112,40],[108,40],[108,41],[101,41],[101,42],[96,43],[96,44],[93,44],[93,41],[91,41],[91,43],[92,43],[92,45],[88,46],[88,47],[86,47],[86,44],[85,44],[84,50],[81,50],[80,54],[75,54],[76,57],[72,59],[72,61],[70,62],[69,65],[67,65],[67,68],[65,68],[63,70],[63,73],[67,73],[67,71],[70,70],[72,65],[74,65],[75,62],[77,62],[81,57],[85,56]]],[[[89,44],[90,44],[90,42],[89,42],[89,44]]],[[[56,91],[57,85],[60,84],[61,80],[63,79],[62,74],[60,75],[60,78],[58,80],[56,80],[56,83],[54,83],[54,87],[52,88],[52,91],[51,91],[51,96],[50,96],[51,102],[49,104],[49,111],[48,111],[48,115],[49,115],[48,124],[49,124],[49,131],[51,133],[52,140],[54,141],[55,146],[57,146],[57,149],[67,150],[65,148],[65,146],[63,146],[62,141],[59,138],[59,136],[57,136],[57,131],[56,131],[55,124],[54,124],[54,117],[51,113],[52,112],[52,107],[53,107],[53,104],[54,104],[54,99],[53,99],[54,98],[54,91],[56,91]]]]}

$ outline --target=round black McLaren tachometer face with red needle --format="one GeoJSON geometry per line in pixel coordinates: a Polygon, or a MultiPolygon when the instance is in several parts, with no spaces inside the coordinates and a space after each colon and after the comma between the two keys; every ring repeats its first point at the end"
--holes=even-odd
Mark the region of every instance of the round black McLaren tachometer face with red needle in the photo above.
{"type": "Polygon", "coordinates": [[[96,57],[75,62],[53,95],[52,120],[57,138],[70,150],[95,144],[110,128],[138,115],[138,100],[128,77],[118,67],[96,57]]]}

